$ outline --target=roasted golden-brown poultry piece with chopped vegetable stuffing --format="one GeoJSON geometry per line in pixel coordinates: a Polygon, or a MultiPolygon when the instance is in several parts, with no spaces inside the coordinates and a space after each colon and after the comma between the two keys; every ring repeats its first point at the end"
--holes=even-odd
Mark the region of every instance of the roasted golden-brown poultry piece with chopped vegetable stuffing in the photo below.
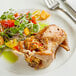
{"type": "Polygon", "coordinates": [[[69,51],[67,34],[56,25],[49,25],[24,41],[25,60],[36,69],[45,68],[55,58],[59,46],[69,51]]]}

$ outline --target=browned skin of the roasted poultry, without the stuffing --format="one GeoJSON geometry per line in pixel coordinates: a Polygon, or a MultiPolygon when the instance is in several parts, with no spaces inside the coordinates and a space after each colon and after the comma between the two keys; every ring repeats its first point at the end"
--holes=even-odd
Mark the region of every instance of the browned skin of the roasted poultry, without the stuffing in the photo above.
{"type": "MultiPolygon", "coordinates": [[[[67,39],[67,34],[60,27],[49,25],[38,32],[37,35],[35,35],[35,39],[43,44],[45,50],[35,51],[35,53],[32,54],[33,57],[40,59],[42,62],[41,64],[35,64],[36,66],[31,63],[31,66],[33,65],[34,68],[45,68],[49,66],[55,58],[56,49],[62,45],[66,46],[64,42],[67,39]]],[[[29,55],[26,58],[29,58],[29,55]]],[[[29,59],[31,59],[31,57],[29,59]]],[[[30,63],[30,61],[27,62],[30,63]]]]}

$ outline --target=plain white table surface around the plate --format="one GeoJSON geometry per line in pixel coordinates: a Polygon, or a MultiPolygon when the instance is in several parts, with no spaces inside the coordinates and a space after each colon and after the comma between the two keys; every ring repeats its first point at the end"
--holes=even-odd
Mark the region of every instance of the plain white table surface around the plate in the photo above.
{"type": "MultiPolygon", "coordinates": [[[[74,2],[74,6],[76,7],[75,2],[74,2]]],[[[2,11],[9,9],[9,8],[47,9],[43,0],[0,0],[0,14],[2,13],[2,11]]],[[[10,76],[10,75],[9,74],[7,75],[6,72],[0,72],[0,76],[10,76]]],[[[66,64],[64,64],[59,69],[52,71],[50,74],[49,73],[46,74],[46,76],[76,76],[76,51],[66,64]]]]}

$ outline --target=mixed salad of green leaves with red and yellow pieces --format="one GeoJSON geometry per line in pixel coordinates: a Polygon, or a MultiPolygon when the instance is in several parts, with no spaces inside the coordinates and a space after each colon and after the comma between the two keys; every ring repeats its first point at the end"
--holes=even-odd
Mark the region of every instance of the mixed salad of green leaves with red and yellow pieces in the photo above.
{"type": "MultiPolygon", "coordinates": [[[[9,11],[4,12],[0,17],[0,52],[5,49],[20,51],[19,45],[23,49],[22,41],[47,26],[48,24],[42,23],[41,20],[46,20],[49,16],[50,14],[44,10],[18,13],[13,9],[9,9],[9,11]]],[[[8,54],[12,56],[10,58],[16,57],[14,59],[18,59],[13,51],[4,51],[3,54],[6,59],[9,58],[7,57],[8,54]]],[[[11,60],[10,58],[8,60],[11,60]]]]}

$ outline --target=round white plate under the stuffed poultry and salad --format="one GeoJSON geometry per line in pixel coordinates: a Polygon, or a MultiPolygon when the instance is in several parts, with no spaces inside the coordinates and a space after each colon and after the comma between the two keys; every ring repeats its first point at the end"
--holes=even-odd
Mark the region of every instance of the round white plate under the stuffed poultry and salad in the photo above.
{"type": "MultiPolygon", "coordinates": [[[[27,10],[17,10],[18,12],[27,12],[27,11],[34,11],[31,9],[27,10]]],[[[35,70],[27,65],[27,63],[24,61],[23,56],[19,57],[19,60],[14,64],[9,64],[6,62],[2,57],[0,58],[0,70],[6,71],[7,73],[10,73],[11,75],[42,75],[51,71],[54,71],[55,69],[61,67],[63,64],[65,64],[69,58],[72,56],[72,54],[75,51],[75,42],[76,42],[76,32],[74,31],[74,28],[71,24],[69,24],[63,17],[58,15],[56,12],[50,12],[51,17],[49,17],[46,21],[43,21],[44,23],[48,22],[49,24],[56,24],[57,26],[63,28],[67,35],[68,35],[68,41],[70,46],[70,51],[67,52],[63,48],[59,48],[56,59],[52,62],[52,64],[41,70],[35,70]]]]}

